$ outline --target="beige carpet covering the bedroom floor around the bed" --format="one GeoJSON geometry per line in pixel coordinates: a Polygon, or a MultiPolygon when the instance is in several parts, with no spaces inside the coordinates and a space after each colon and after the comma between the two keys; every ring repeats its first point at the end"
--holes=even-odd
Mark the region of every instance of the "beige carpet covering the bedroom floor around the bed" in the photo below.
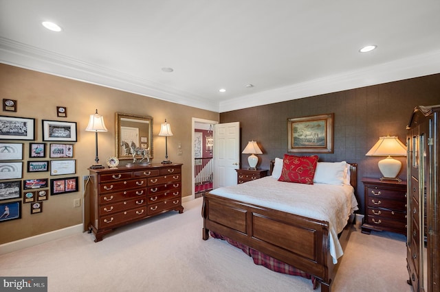
{"type": "MultiPolygon", "coordinates": [[[[77,234],[0,256],[1,276],[47,276],[48,291],[313,291],[310,280],[254,265],[241,250],[201,239],[201,201],[184,214],[120,228],[94,243],[77,234]]],[[[355,228],[355,227],[353,227],[355,228]]],[[[333,291],[411,291],[405,237],[352,232],[333,291]]]]}

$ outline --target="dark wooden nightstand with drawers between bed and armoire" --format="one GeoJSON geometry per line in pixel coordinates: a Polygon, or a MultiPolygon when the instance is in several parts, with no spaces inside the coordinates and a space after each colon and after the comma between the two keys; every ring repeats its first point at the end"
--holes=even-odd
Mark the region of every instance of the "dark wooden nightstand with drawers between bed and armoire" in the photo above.
{"type": "Polygon", "coordinates": [[[406,235],[406,181],[363,178],[365,217],[362,233],[371,230],[406,235]]]}

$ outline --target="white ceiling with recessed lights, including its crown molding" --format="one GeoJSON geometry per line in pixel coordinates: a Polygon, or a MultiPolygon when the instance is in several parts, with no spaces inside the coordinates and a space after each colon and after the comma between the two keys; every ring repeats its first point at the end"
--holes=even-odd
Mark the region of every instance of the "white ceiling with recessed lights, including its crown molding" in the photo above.
{"type": "Polygon", "coordinates": [[[440,73],[439,15],[439,0],[0,0],[0,62],[225,112],[440,73]]]}

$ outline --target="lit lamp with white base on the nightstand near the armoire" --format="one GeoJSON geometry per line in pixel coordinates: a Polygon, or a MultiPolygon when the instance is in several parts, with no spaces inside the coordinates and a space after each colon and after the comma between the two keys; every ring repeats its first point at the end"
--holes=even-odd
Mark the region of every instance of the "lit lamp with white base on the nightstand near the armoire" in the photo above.
{"type": "Polygon", "coordinates": [[[397,136],[380,137],[379,141],[365,154],[365,156],[388,156],[380,160],[377,166],[382,173],[380,180],[401,180],[397,178],[401,169],[401,162],[391,156],[406,156],[406,146],[399,141],[397,136]]]}

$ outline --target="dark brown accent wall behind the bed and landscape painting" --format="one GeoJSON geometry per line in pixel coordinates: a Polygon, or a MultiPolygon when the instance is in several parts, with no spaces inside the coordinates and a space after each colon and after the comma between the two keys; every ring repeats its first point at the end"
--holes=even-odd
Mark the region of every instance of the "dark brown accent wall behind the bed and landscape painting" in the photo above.
{"type": "MultiPolygon", "coordinates": [[[[267,97],[270,99],[270,96],[267,97]]],[[[287,153],[287,119],[334,113],[334,153],[318,154],[322,161],[358,163],[358,202],[364,210],[364,186],[361,178],[380,178],[380,157],[365,156],[380,136],[398,136],[406,143],[406,125],[415,106],[440,104],[440,74],[399,82],[344,90],[303,99],[256,106],[220,114],[220,122],[239,121],[241,150],[248,141],[261,145],[259,167],[269,169],[270,160],[287,153]]],[[[305,155],[305,154],[304,154],[305,155]]],[[[248,167],[248,155],[241,165],[248,167]]],[[[406,158],[399,178],[406,180],[406,158]]]]}

